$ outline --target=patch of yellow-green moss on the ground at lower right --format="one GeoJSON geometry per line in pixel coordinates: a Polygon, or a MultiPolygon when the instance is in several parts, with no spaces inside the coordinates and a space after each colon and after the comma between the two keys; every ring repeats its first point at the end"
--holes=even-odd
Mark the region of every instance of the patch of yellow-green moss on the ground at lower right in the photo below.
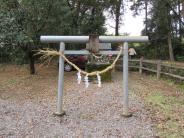
{"type": "Polygon", "coordinates": [[[182,109],[182,100],[177,97],[163,95],[161,92],[154,92],[146,97],[146,101],[152,104],[161,118],[165,119],[156,125],[160,137],[180,138],[183,136],[182,128],[177,121],[178,116],[175,114],[177,109],[182,109]]]}

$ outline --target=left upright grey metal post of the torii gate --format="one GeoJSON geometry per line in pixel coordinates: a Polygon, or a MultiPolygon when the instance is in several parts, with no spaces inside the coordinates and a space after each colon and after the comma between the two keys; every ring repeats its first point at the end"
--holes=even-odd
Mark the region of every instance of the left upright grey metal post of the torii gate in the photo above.
{"type": "MultiPolygon", "coordinates": [[[[60,52],[64,52],[65,44],[60,43],[60,52]]],[[[55,115],[63,116],[65,112],[62,109],[63,105],[63,85],[64,84],[64,59],[59,57],[59,76],[58,76],[58,95],[57,95],[57,109],[55,115]]]]}

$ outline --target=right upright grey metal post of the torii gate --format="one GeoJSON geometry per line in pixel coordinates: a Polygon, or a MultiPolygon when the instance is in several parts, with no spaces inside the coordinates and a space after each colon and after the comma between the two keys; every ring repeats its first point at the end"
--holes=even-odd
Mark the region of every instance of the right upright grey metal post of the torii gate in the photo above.
{"type": "Polygon", "coordinates": [[[123,48],[123,116],[129,117],[128,111],[128,43],[123,48]]]}

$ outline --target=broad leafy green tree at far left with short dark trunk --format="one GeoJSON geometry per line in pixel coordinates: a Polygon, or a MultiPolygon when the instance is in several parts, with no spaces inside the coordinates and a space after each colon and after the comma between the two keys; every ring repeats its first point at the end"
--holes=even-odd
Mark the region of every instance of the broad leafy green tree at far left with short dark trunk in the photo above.
{"type": "Polygon", "coordinates": [[[41,34],[66,34],[70,11],[64,0],[2,0],[1,45],[21,47],[30,59],[30,73],[35,73],[34,52],[41,34]]]}

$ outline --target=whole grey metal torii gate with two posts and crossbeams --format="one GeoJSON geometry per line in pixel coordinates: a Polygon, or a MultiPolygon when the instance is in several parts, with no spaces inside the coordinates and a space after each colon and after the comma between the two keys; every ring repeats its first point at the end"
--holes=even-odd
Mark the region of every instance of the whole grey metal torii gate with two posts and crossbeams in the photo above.
{"type": "MultiPolygon", "coordinates": [[[[89,36],[41,36],[41,42],[60,43],[60,52],[69,54],[89,54],[89,51],[65,50],[65,43],[88,43],[89,36]]],[[[100,43],[124,43],[123,45],[123,115],[129,116],[128,99],[128,43],[129,42],[148,42],[147,36],[99,36],[100,43]]],[[[119,51],[100,51],[99,54],[118,54],[119,51]]],[[[64,84],[64,59],[59,57],[59,76],[56,115],[64,115],[63,104],[63,84],[64,84]]]]}

